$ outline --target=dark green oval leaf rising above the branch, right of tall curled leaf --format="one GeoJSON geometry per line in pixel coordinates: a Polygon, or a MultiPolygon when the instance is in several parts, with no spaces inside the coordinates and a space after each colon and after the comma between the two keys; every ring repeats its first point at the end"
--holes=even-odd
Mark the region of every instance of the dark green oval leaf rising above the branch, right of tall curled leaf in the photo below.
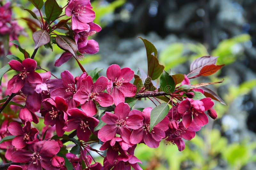
{"type": "Polygon", "coordinates": [[[165,93],[172,93],[175,89],[175,82],[171,75],[166,71],[163,71],[163,74],[160,77],[160,88],[158,91],[164,91],[165,93]]]}

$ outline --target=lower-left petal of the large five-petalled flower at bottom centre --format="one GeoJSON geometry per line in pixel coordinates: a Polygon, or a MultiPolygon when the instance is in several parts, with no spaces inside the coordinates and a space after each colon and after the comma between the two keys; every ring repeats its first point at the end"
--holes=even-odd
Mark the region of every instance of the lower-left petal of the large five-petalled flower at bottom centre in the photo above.
{"type": "Polygon", "coordinates": [[[102,142],[113,139],[116,136],[117,126],[116,125],[104,125],[98,132],[98,138],[102,142]],[[108,135],[106,135],[108,134],[108,135]]]}

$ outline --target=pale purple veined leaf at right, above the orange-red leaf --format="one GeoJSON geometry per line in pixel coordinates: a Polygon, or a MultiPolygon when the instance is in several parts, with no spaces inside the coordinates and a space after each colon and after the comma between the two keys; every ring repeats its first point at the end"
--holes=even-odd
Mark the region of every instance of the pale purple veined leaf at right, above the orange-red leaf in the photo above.
{"type": "Polygon", "coordinates": [[[194,60],[190,65],[190,74],[198,74],[200,70],[207,65],[216,64],[218,57],[203,56],[194,60]]]}

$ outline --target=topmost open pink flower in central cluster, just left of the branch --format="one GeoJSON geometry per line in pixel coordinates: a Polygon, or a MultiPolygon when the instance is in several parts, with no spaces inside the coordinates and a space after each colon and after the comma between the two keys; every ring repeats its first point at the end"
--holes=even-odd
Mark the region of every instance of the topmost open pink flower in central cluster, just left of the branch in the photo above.
{"type": "Polygon", "coordinates": [[[132,97],[136,94],[136,86],[129,81],[132,80],[134,72],[131,68],[120,68],[112,64],[107,69],[107,77],[110,80],[107,91],[113,97],[115,105],[124,102],[124,97],[132,97]]]}

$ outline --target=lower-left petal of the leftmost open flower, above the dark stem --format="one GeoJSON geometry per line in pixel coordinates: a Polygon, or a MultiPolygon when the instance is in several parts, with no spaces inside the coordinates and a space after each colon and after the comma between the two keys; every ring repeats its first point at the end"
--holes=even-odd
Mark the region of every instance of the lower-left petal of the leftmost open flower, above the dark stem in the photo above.
{"type": "Polygon", "coordinates": [[[11,90],[12,93],[17,93],[24,86],[25,79],[21,79],[19,74],[14,75],[11,80],[8,81],[7,89],[11,90]]]}

